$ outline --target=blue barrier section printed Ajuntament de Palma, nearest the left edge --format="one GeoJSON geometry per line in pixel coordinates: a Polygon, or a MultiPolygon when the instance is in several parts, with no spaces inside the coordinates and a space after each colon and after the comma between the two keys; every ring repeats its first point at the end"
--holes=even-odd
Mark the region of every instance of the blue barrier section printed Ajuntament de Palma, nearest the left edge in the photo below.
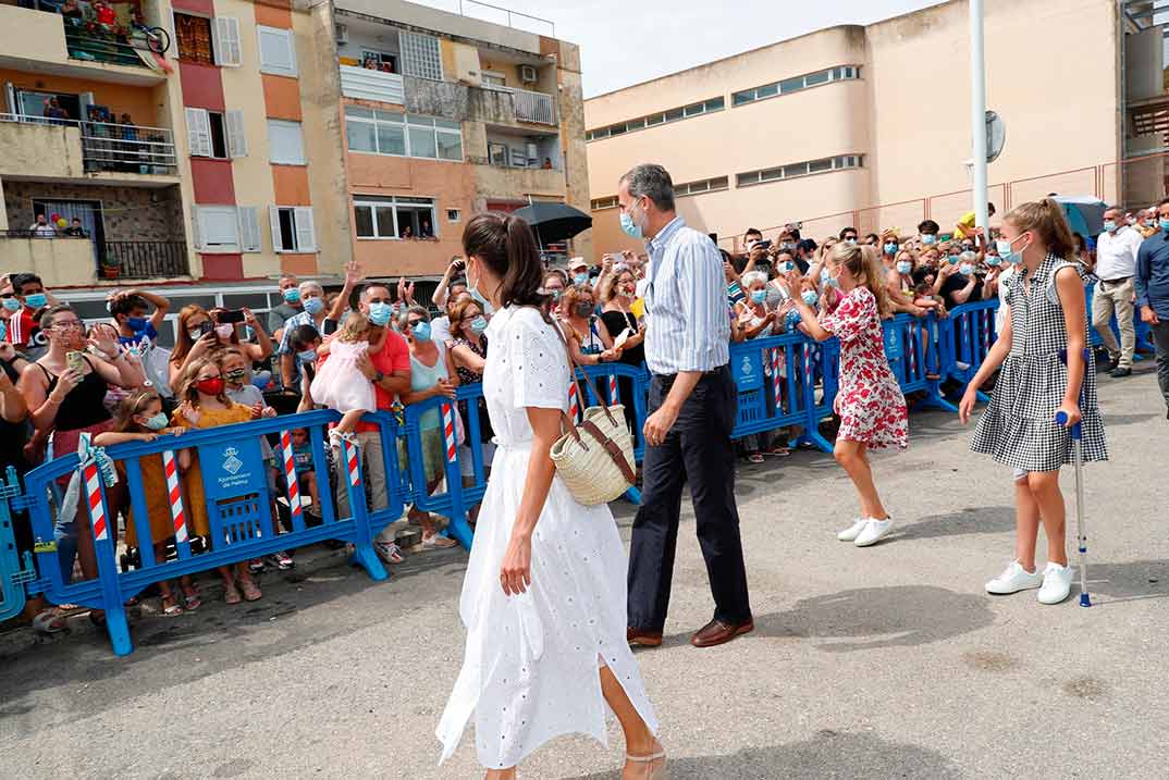
{"type": "MultiPolygon", "coordinates": [[[[354,560],[361,564],[373,579],[385,579],[386,570],[373,551],[360,459],[348,458],[351,453],[347,445],[343,452],[343,460],[352,462],[352,466],[343,467],[341,478],[348,489],[352,515],[337,517],[331,492],[323,489],[319,492],[323,521],[320,525],[306,527],[303,513],[293,510],[292,530],[286,534],[275,532],[276,518],[271,511],[272,496],[268,487],[269,467],[261,457],[260,438],[290,429],[307,429],[313,460],[326,464],[328,460],[325,457],[325,429],[339,419],[337,412],[313,411],[214,429],[191,430],[181,436],[159,437],[151,443],[108,447],[105,453],[123,464],[134,529],[139,549],[143,551],[140,566],[124,573],[118,572],[115,559],[117,514],[111,510],[108,490],[97,475],[92,461],[82,464],[74,453],[33,469],[25,478],[26,494],[12,502],[29,510],[37,543],[49,548],[37,552],[40,578],[29,583],[28,591],[43,592],[55,604],[72,603],[104,610],[113,650],[118,655],[125,655],[132,650],[132,646],[124,604],[126,599],[153,583],[236,564],[326,538],[352,542],[355,548],[354,560]],[[181,514],[175,515],[177,557],[173,560],[158,563],[152,555],[152,545],[161,539],[154,539],[151,535],[146,492],[147,487],[153,492],[160,489],[160,486],[144,485],[139,459],[158,455],[165,464],[167,455],[164,453],[174,458],[184,450],[194,450],[198,453],[206,496],[210,549],[201,555],[192,551],[191,539],[196,529],[193,523],[192,504],[186,495],[182,495],[178,503],[181,514]],[[78,534],[95,536],[98,577],[72,583],[68,581],[67,573],[62,573],[51,544],[47,544],[54,538],[54,515],[61,510],[60,504],[56,507],[50,504],[49,488],[55,481],[70,478],[75,473],[79,474],[82,471],[85,479],[82,480],[77,511],[78,518],[84,518],[84,508],[88,507],[89,522],[79,522],[77,530],[78,534]]],[[[187,479],[194,479],[193,473],[187,479]]],[[[175,493],[180,495],[189,493],[191,487],[189,483],[185,485],[185,490],[172,492],[172,496],[175,493]]],[[[397,492],[393,492],[393,495],[397,495],[397,492]]],[[[172,507],[175,506],[173,499],[171,503],[172,507]]],[[[400,502],[397,511],[401,513],[400,502]]]]}

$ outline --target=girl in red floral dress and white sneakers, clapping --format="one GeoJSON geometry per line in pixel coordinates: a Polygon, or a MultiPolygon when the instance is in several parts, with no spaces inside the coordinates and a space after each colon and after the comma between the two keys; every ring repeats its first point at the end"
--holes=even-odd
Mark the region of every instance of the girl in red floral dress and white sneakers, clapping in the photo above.
{"type": "MultiPolygon", "coordinates": [[[[824,269],[826,283],[839,287],[844,299],[830,314],[817,319],[801,295],[791,295],[801,328],[817,341],[841,340],[841,381],[835,409],[841,417],[833,453],[860,497],[860,516],[837,534],[842,542],[869,546],[893,524],[877,495],[869,450],[908,446],[909,416],[905,396],[885,357],[881,318],[888,312],[885,269],[870,248],[841,243],[832,248],[824,269]]],[[[798,293],[798,272],[789,274],[789,291],[798,293]]]]}

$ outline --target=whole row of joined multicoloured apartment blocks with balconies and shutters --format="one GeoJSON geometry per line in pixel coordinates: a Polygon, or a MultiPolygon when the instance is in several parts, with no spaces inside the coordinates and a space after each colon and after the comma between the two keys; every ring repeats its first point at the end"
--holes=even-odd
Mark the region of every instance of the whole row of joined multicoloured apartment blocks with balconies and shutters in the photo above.
{"type": "Polygon", "coordinates": [[[354,258],[434,279],[476,211],[588,208],[570,43],[397,1],[76,6],[0,0],[0,273],[83,316],[126,284],[263,312],[354,258]]]}

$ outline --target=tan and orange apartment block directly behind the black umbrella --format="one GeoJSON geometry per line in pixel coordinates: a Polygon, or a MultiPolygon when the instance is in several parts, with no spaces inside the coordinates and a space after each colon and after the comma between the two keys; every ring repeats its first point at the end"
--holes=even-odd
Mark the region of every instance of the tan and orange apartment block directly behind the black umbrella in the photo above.
{"type": "MultiPolygon", "coordinates": [[[[344,202],[367,273],[442,274],[478,211],[588,210],[576,46],[400,0],[316,11],[332,32],[317,68],[338,75],[344,202]]],[[[565,251],[590,253],[588,234],[565,251]]]]}

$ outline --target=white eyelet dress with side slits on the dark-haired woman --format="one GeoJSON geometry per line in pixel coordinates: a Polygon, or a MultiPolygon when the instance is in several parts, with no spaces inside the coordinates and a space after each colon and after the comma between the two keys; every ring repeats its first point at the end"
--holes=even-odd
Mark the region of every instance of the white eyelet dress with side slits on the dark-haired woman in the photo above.
{"type": "Polygon", "coordinates": [[[524,495],[532,446],[526,408],[567,410],[565,346],[531,307],[487,327],[483,372],[498,451],[463,580],[463,669],[438,723],[440,764],[475,713],[479,762],[507,768],[547,740],[588,734],[608,746],[603,663],[653,733],[657,718],[625,641],[625,550],[604,504],[584,507],[553,479],[532,537],[532,585],[507,597],[499,569],[524,495]]]}

